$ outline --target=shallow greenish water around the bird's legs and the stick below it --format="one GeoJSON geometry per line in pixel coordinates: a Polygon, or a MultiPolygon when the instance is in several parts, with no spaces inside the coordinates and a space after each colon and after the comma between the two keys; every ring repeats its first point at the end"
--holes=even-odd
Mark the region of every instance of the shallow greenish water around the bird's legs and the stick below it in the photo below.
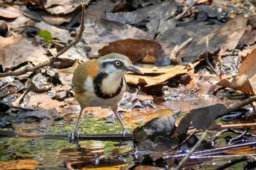
{"type": "MultiPolygon", "coordinates": [[[[72,129],[76,115],[79,113],[77,105],[72,107],[58,108],[65,118],[60,121],[55,121],[53,126],[42,128],[47,123],[28,124],[27,126],[14,126],[16,131],[31,132],[31,133],[51,133],[51,134],[68,134],[72,129]],[[74,119],[73,119],[74,118],[74,119]],[[73,119],[73,120],[72,120],[73,119]]],[[[162,107],[159,109],[135,109],[124,112],[122,117],[128,129],[132,132],[135,127],[144,124],[148,120],[157,116],[164,116],[171,114],[173,111],[166,110],[162,107]]],[[[179,118],[182,118],[184,113],[181,113],[179,118]]],[[[220,121],[219,121],[220,122],[220,121]]],[[[7,129],[4,129],[7,130],[7,129]]],[[[121,126],[118,120],[113,116],[109,109],[91,108],[83,113],[79,131],[81,134],[115,134],[121,131],[121,126]]],[[[197,134],[200,138],[201,134],[197,134]]],[[[215,134],[213,134],[215,135],[215,134]]],[[[234,134],[226,133],[223,137],[234,134]]],[[[226,142],[218,139],[218,146],[225,146],[226,142]]],[[[211,139],[208,137],[207,139],[211,139]]],[[[0,138],[0,164],[11,163],[13,160],[36,160],[39,161],[37,169],[58,170],[64,169],[63,166],[68,162],[88,161],[88,168],[94,165],[93,161],[95,154],[99,158],[117,158],[117,156],[124,154],[133,149],[132,141],[128,142],[111,142],[111,141],[80,141],[79,145],[69,144],[66,140],[57,139],[30,139],[30,138],[0,138]]],[[[211,161],[206,161],[198,166],[198,169],[214,169],[218,166],[227,163],[234,158],[214,158],[211,161]]],[[[132,166],[134,163],[133,157],[121,157],[121,164],[124,169],[132,166]],[[125,161],[125,162],[122,162],[125,161]]],[[[104,167],[111,166],[112,163],[108,161],[104,167]]],[[[241,163],[232,167],[234,170],[239,170],[243,167],[241,163]]],[[[195,166],[194,166],[195,167],[195,166]]],[[[113,168],[116,169],[116,168],[113,168]]]]}

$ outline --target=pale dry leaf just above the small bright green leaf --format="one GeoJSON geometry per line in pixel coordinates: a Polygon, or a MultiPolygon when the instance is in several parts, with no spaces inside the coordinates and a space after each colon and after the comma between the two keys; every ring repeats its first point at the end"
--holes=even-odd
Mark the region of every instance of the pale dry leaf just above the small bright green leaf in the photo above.
{"type": "Polygon", "coordinates": [[[52,34],[52,37],[58,38],[59,40],[65,42],[67,44],[68,40],[72,40],[73,38],[70,36],[68,30],[58,28],[56,26],[49,25],[43,21],[37,22],[35,25],[40,30],[47,30],[52,34]]]}

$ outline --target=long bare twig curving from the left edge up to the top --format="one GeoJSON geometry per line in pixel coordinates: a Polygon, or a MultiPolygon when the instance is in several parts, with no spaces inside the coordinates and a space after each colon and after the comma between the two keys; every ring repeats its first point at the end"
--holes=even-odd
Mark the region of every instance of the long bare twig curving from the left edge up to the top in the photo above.
{"type": "Polygon", "coordinates": [[[52,63],[56,61],[56,59],[61,56],[64,52],[66,52],[68,49],[70,49],[72,46],[75,46],[79,40],[82,37],[83,31],[85,29],[84,26],[84,20],[85,20],[85,3],[82,1],[82,17],[81,17],[81,24],[80,24],[80,31],[78,34],[76,34],[76,37],[68,44],[66,47],[64,47],[61,51],[59,51],[56,55],[53,55],[51,59],[45,63],[41,63],[39,65],[36,65],[34,67],[27,67],[20,71],[13,71],[13,72],[7,72],[7,73],[0,73],[0,77],[6,77],[6,76],[19,76],[22,74],[26,74],[27,72],[35,72],[36,70],[50,66],[52,63]]]}

